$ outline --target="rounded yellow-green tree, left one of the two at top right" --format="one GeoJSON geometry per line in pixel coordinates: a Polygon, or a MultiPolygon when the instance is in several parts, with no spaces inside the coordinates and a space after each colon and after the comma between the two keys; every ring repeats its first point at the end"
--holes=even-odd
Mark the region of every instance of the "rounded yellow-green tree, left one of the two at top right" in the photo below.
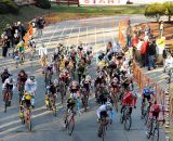
{"type": "Polygon", "coordinates": [[[145,16],[155,17],[159,22],[160,16],[165,14],[165,8],[161,3],[152,3],[146,7],[145,16]]]}

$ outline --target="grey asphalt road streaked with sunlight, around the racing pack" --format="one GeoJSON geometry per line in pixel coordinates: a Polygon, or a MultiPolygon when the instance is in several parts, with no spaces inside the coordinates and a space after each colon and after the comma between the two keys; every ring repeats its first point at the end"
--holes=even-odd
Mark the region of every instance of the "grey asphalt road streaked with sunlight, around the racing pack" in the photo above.
{"type": "MultiPolygon", "coordinates": [[[[67,21],[50,25],[43,30],[43,36],[37,39],[38,46],[40,42],[49,48],[49,53],[53,51],[58,42],[64,44],[77,44],[79,41],[89,43],[93,47],[96,53],[104,50],[107,41],[115,42],[118,35],[118,23],[120,20],[129,18],[129,15],[109,16],[99,18],[89,18],[79,21],[67,21]]],[[[143,15],[131,15],[132,24],[147,22],[143,15]]],[[[77,116],[76,128],[74,134],[69,137],[63,128],[63,117],[65,106],[59,104],[57,100],[57,117],[53,117],[52,113],[44,107],[44,81],[41,74],[41,68],[38,63],[38,54],[35,61],[29,60],[18,69],[15,68],[15,62],[11,57],[0,57],[0,67],[8,66],[14,78],[21,68],[28,72],[29,75],[34,74],[37,79],[38,89],[36,92],[36,108],[31,112],[32,131],[28,132],[26,127],[21,125],[18,117],[18,95],[17,91],[14,92],[12,106],[8,108],[8,113],[3,113],[2,97],[0,97],[0,140],[2,141],[99,141],[97,137],[97,121],[96,108],[98,105],[95,103],[93,95],[89,102],[89,112],[82,113],[77,116]]],[[[95,60],[92,61],[90,75],[94,78],[95,74],[95,60]]],[[[0,84],[1,85],[1,84],[0,84]]],[[[137,90],[137,87],[136,87],[137,90]]],[[[147,141],[145,134],[145,126],[141,120],[139,112],[141,98],[138,94],[137,108],[132,114],[132,128],[130,131],[123,129],[120,124],[120,114],[116,114],[114,124],[108,127],[107,141],[147,141]]],[[[160,141],[164,141],[164,132],[160,130],[160,141]]]]}

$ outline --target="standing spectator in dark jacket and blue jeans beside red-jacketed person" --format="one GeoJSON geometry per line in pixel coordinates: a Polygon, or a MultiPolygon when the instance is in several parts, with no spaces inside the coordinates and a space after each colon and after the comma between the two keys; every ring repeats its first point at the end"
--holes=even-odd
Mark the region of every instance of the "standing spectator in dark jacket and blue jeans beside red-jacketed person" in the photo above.
{"type": "Polygon", "coordinates": [[[148,49],[146,51],[148,54],[148,70],[150,70],[151,67],[154,69],[156,68],[155,59],[156,59],[156,40],[152,40],[149,42],[148,49]]]}

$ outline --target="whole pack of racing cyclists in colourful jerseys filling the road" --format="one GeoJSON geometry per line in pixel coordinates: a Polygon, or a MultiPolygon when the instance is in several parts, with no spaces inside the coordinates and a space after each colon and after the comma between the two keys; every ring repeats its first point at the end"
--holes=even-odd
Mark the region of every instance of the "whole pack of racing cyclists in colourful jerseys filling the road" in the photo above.
{"type": "MultiPolygon", "coordinates": [[[[111,47],[111,43],[109,42],[111,47]]],[[[77,48],[66,48],[63,44],[54,50],[52,59],[48,62],[48,51],[44,46],[39,49],[39,57],[42,67],[42,75],[45,78],[45,101],[50,94],[62,98],[62,104],[66,100],[67,111],[80,112],[82,106],[90,105],[89,98],[95,94],[95,101],[99,105],[96,111],[98,120],[106,118],[107,125],[112,121],[114,108],[118,112],[123,111],[124,106],[130,105],[130,114],[136,107],[137,95],[134,92],[133,75],[131,73],[131,61],[125,60],[123,51],[115,52],[108,46],[105,52],[98,54],[95,78],[89,73],[93,59],[92,48],[79,44],[77,48]],[[91,76],[90,76],[91,75],[91,76]],[[53,79],[54,77],[55,79],[53,79]],[[94,87],[94,91],[93,91],[94,87]],[[86,99],[86,101],[85,101],[86,99]]],[[[27,107],[35,107],[35,94],[37,81],[35,76],[22,69],[17,75],[17,84],[11,77],[8,68],[1,74],[3,84],[3,93],[5,90],[13,91],[15,86],[19,93],[19,104],[27,107]]],[[[10,101],[12,100],[12,94],[10,101]]],[[[158,117],[161,110],[156,103],[155,89],[152,87],[144,88],[142,92],[142,106],[145,101],[150,103],[150,112],[158,117]]],[[[142,113],[143,114],[143,113],[142,113]]],[[[98,130],[98,137],[102,131],[98,130]]]]}

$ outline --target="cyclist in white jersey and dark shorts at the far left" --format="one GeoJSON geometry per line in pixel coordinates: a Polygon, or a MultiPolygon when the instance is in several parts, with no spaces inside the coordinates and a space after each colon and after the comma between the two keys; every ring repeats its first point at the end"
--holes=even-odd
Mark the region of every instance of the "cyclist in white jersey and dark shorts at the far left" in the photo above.
{"type": "Polygon", "coordinates": [[[5,79],[5,81],[2,85],[2,91],[3,91],[3,101],[5,99],[5,93],[10,92],[9,95],[9,105],[11,105],[11,100],[13,98],[13,90],[15,89],[15,81],[13,78],[9,77],[5,79]]]}

